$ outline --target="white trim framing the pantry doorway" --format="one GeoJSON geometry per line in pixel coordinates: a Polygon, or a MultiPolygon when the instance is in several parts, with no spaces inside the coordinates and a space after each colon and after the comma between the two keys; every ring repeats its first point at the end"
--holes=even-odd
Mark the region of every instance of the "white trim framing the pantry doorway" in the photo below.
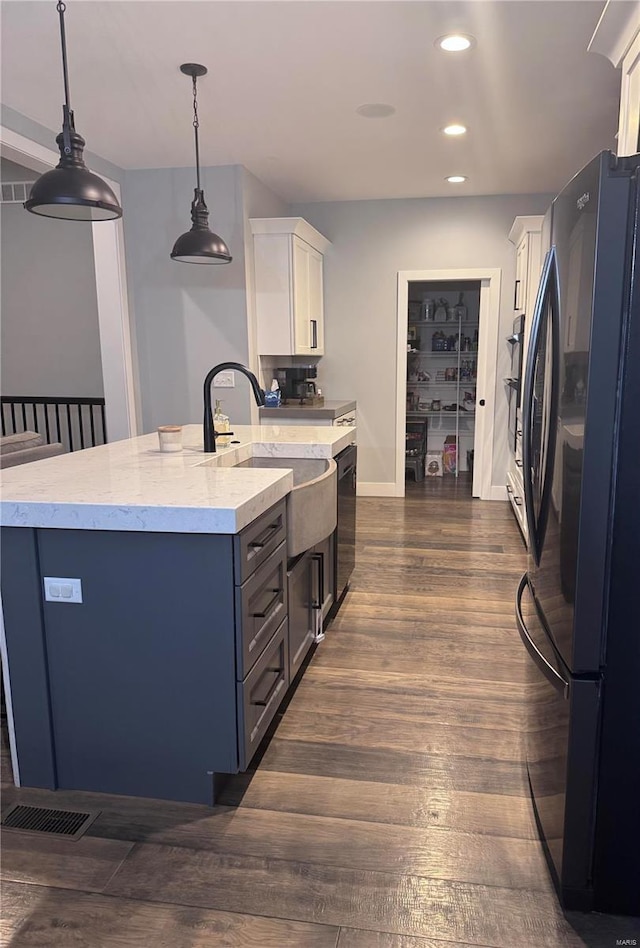
{"type": "MultiPolygon", "coordinates": [[[[492,489],[493,436],[496,400],[498,340],[500,332],[500,284],[502,270],[495,267],[464,270],[399,270],[396,360],[396,479],[395,496],[405,494],[405,425],[407,421],[407,329],[409,283],[480,282],[480,333],[478,341],[477,401],[484,399],[483,408],[476,408],[475,463],[472,495],[481,500],[495,500],[498,493],[492,489]],[[478,451],[478,448],[480,450],[478,451]]],[[[504,490],[499,491],[504,499],[504,490]]]]}

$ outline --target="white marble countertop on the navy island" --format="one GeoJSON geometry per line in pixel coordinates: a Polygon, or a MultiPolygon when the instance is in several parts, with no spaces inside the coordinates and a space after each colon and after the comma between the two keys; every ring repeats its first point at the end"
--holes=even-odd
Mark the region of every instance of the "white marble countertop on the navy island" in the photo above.
{"type": "Polygon", "coordinates": [[[238,445],[204,454],[202,426],[185,425],[183,449],[158,436],[88,448],[2,471],[0,524],[73,530],[237,533],[285,497],[287,469],[234,468],[249,457],[331,458],[353,428],[234,425],[238,445]]]}

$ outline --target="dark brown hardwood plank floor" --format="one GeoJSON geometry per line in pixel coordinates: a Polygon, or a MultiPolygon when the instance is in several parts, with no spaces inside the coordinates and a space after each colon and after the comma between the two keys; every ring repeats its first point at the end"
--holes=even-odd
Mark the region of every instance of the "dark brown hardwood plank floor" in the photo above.
{"type": "Polygon", "coordinates": [[[11,948],[547,948],[637,939],[565,915],[522,765],[525,553],[468,478],[360,498],[352,588],[270,741],[209,809],[17,790],[98,808],[78,841],[7,832],[11,948]]]}

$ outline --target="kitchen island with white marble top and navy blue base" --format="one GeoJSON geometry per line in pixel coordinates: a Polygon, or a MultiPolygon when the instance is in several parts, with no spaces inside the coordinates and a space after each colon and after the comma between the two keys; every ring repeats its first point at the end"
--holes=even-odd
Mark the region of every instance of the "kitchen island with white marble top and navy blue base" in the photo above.
{"type": "Polygon", "coordinates": [[[213,803],[290,684],[292,470],[353,429],[236,426],[157,435],[3,476],[3,667],[16,780],[213,803]],[[293,463],[293,462],[292,462],[293,463]]]}

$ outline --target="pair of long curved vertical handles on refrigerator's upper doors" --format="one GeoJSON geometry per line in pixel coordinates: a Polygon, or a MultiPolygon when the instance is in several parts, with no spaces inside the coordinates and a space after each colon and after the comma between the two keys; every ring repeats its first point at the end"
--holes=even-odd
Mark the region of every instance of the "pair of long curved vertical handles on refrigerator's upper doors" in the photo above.
{"type": "Polygon", "coordinates": [[[533,554],[536,564],[540,563],[542,553],[542,543],[544,539],[544,529],[547,519],[548,506],[551,499],[551,474],[553,472],[553,461],[555,454],[556,428],[555,414],[558,397],[559,371],[559,338],[558,327],[560,319],[560,294],[558,287],[558,259],[555,246],[547,251],[536,305],[533,311],[531,324],[531,338],[529,341],[529,351],[527,354],[527,371],[525,373],[523,403],[522,403],[522,461],[523,461],[523,484],[525,499],[525,514],[527,527],[529,531],[529,547],[533,554]],[[533,499],[533,481],[532,481],[532,454],[533,447],[531,443],[532,421],[534,417],[534,385],[536,354],[540,342],[540,333],[543,329],[542,316],[544,307],[550,305],[551,333],[549,344],[551,346],[551,404],[549,409],[549,425],[547,428],[547,443],[544,451],[544,471],[541,476],[542,496],[540,500],[540,513],[536,520],[535,506],[533,499]]]}

